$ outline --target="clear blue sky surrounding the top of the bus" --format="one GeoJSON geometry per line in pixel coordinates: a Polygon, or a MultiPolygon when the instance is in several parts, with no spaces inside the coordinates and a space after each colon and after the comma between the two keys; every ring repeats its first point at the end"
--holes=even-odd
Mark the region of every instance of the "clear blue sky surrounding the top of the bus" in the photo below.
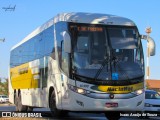
{"type": "MultiPolygon", "coordinates": [[[[10,49],[34,29],[62,12],[113,14],[135,22],[140,34],[152,28],[156,55],[150,57],[150,79],[160,80],[160,0],[0,0],[0,77],[7,78],[10,49]],[[16,5],[15,11],[3,7],[16,5]]],[[[146,58],[147,42],[142,40],[146,58]]],[[[145,59],[146,60],[146,59],[145,59]]]]}

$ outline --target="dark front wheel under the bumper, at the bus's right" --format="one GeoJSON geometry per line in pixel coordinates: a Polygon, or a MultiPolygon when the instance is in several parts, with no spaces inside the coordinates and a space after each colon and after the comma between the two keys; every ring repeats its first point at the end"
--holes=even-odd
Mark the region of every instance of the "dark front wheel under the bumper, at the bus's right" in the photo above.
{"type": "Polygon", "coordinates": [[[119,120],[120,119],[120,112],[109,111],[109,112],[105,113],[105,116],[108,120],[119,120]]]}

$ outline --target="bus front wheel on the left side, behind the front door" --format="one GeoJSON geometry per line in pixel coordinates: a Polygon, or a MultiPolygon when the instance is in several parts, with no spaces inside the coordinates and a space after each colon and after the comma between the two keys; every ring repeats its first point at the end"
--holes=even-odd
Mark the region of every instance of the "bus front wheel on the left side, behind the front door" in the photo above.
{"type": "Polygon", "coordinates": [[[52,112],[52,115],[54,117],[62,117],[63,115],[63,111],[62,110],[58,110],[56,107],[56,95],[55,92],[53,91],[50,97],[50,110],[52,112]]]}

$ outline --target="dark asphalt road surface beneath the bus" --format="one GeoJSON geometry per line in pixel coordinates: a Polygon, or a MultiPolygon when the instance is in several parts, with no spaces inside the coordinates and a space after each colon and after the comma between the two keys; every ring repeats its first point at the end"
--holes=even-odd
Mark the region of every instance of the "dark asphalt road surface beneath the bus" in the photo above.
{"type": "MultiPolygon", "coordinates": [[[[16,117],[16,112],[15,112],[15,106],[14,105],[8,105],[8,104],[0,104],[0,114],[2,115],[2,112],[12,112],[11,114],[14,115],[14,118],[7,118],[9,119],[21,119],[21,117],[16,117]],[[14,113],[15,112],[15,113],[14,113]],[[13,114],[14,113],[14,114],[13,114]]],[[[34,120],[107,120],[104,114],[93,114],[93,113],[73,113],[70,112],[69,115],[63,119],[57,119],[53,118],[50,110],[46,108],[35,108],[33,109],[34,112],[40,113],[38,114],[39,117],[34,118],[34,120]],[[43,112],[42,112],[43,111],[43,112]],[[41,117],[42,116],[42,117],[41,117]]],[[[4,113],[3,113],[4,114],[4,113]]],[[[28,113],[23,113],[25,115],[28,113]]],[[[21,114],[21,116],[23,116],[21,114]]],[[[28,119],[33,119],[33,118],[25,118],[26,120],[28,119]]],[[[120,120],[145,120],[144,118],[139,118],[139,117],[121,117],[120,120]]],[[[160,117],[149,117],[151,120],[159,120],[160,117]]]]}

